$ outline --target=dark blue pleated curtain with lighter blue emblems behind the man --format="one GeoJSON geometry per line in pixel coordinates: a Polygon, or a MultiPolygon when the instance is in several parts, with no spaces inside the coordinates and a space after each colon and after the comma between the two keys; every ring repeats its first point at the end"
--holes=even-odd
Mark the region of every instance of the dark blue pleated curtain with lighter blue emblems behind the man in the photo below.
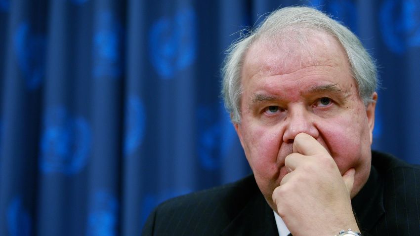
{"type": "Polygon", "coordinates": [[[0,235],[140,235],[159,202],[250,173],[223,50],[293,4],[362,39],[374,148],[420,163],[420,0],[0,0],[0,235]]]}

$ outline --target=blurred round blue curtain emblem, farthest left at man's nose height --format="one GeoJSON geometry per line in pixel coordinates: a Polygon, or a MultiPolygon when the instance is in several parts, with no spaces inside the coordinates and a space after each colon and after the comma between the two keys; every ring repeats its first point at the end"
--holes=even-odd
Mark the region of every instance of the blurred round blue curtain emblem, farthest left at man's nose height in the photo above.
{"type": "Polygon", "coordinates": [[[79,172],[86,165],[91,143],[91,128],[87,121],[71,116],[64,107],[54,107],[47,109],[43,125],[41,171],[79,172]]]}

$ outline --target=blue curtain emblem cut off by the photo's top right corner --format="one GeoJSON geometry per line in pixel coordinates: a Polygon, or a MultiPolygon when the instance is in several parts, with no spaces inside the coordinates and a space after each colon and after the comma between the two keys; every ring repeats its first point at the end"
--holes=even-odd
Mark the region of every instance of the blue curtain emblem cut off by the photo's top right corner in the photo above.
{"type": "Polygon", "coordinates": [[[390,51],[420,46],[420,1],[386,0],[379,11],[380,32],[390,51]]]}

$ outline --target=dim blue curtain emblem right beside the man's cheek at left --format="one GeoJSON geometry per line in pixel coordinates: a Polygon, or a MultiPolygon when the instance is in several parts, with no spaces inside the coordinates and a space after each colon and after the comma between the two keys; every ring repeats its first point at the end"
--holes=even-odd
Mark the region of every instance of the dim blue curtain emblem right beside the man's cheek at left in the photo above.
{"type": "Polygon", "coordinates": [[[220,168],[221,159],[226,157],[236,134],[223,104],[199,106],[198,112],[200,164],[207,170],[220,168]]]}

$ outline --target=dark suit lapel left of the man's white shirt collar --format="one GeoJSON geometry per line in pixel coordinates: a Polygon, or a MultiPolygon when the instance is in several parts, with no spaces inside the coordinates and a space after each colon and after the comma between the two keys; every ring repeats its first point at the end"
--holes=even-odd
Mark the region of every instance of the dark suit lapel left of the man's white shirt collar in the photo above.
{"type": "Polygon", "coordinates": [[[273,210],[259,190],[221,235],[278,236],[273,210]]]}

